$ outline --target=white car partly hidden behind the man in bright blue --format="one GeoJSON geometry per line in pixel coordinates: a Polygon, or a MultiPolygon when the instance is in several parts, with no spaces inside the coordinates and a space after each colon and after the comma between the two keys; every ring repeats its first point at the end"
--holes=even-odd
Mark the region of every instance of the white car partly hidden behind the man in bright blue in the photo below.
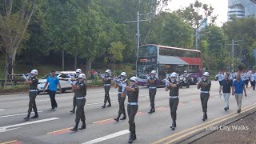
{"type": "MultiPolygon", "coordinates": [[[[59,79],[59,82],[62,86],[62,93],[64,93],[66,90],[71,90],[72,86],[70,83],[67,82],[68,79],[73,78],[75,75],[75,71],[56,71],[55,76],[59,79]]],[[[43,86],[45,86],[47,78],[50,76],[50,74],[47,74],[43,78],[38,80],[38,94],[42,92],[43,86]]],[[[46,86],[47,91],[48,86],[46,86]]]]}

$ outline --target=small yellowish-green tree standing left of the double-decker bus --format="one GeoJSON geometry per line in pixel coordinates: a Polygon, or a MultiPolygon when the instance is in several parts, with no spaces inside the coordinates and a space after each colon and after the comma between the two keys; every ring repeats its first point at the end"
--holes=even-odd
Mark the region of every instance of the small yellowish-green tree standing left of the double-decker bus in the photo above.
{"type": "MultiPolygon", "coordinates": [[[[125,49],[126,45],[122,42],[111,42],[111,47],[109,48],[108,52],[110,54],[110,60],[113,62],[114,65],[114,74],[115,74],[115,62],[121,62],[123,58],[123,50],[125,49]]],[[[108,58],[105,58],[105,62],[108,62],[108,58]]]]}

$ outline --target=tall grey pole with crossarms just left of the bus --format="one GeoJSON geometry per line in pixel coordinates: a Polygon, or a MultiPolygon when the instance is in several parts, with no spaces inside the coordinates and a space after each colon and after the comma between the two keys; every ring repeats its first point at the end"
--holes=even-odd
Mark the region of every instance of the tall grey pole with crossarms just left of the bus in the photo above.
{"type": "MultiPolygon", "coordinates": [[[[139,3],[140,3],[140,1],[139,1],[139,3]]],[[[136,36],[137,36],[137,56],[136,56],[136,75],[137,75],[137,62],[138,62],[138,49],[139,49],[139,46],[140,46],[140,44],[139,44],[139,42],[140,42],[140,31],[139,31],[139,22],[143,22],[143,21],[150,21],[150,19],[145,19],[145,20],[141,20],[140,19],[140,16],[142,16],[142,15],[150,15],[151,13],[146,13],[146,14],[139,14],[139,10],[138,10],[138,12],[137,12],[137,20],[136,21],[126,21],[126,22],[124,22],[124,23],[130,23],[130,22],[137,22],[137,34],[136,34],[136,36]]]]}

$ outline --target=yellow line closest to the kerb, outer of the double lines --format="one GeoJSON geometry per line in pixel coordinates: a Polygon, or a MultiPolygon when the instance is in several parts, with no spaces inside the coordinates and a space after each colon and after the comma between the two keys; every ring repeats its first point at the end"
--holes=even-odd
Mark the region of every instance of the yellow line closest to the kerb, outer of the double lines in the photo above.
{"type": "MultiPolygon", "coordinates": [[[[242,113],[245,113],[245,112],[248,111],[248,110],[254,109],[255,107],[256,107],[256,106],[253,106],[253,107],[251,107],[250,109],[243,110],[242,113]]],[[[215,124],[217,124],[217,123],[219,123],[219,122],[225,121],[226,119],[234,118],[235,116],[238,116],[238,114],[234,114],[234,115],[231,116],[231,117],[224,118],[224,119],[222,119],[222,120],[220,120],[220,121],[218,121],[218,122],[214,122],[214,123],[212,123],[212,124],[210,124],[210,125],[208,125],[208,126],[213,126],[213,125],[215,125],[215,124]]],[[[190,134],[193,134],[194,132],[197,132],[197,131],[199,131],[199,130],[206,129],[206,127],[207,127],[207,126],[203,126],[203,127],[199,128],[198,130],[193,130],[193,131],[191,131],[190,133],[183,134],[182,136],[179,136],[178,138],[174,138],[174,139],[170,140],[169,142],[166,142],[165,144],[170,144],[171,142],[175,142],[175,141],[177,141],[177,140],[180,139],[180,138],[184,138],[184,137],[186,137],[186,136],[188,136],[188,135],[190,135],[190,134]]]]}

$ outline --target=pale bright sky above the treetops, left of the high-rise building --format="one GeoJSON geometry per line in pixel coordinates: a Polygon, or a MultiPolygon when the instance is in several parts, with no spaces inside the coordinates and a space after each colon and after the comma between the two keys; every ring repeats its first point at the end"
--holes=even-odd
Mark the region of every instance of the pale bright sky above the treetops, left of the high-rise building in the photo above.
{"type": "MultiPolygon", "coordinates": [[[[208,4],[214,7],[214,15],[218,15],[216,20],[217,26],[222,26],[223,22],[227,21],[227,10],[228,10],[228,0],[198,0],[203,4],[208,4]]],[[[190,6],[190,3],[194,3],[195,0],[171,0],[168,5],[170,10],[178,10],[186,6],[190,6]]]]}

